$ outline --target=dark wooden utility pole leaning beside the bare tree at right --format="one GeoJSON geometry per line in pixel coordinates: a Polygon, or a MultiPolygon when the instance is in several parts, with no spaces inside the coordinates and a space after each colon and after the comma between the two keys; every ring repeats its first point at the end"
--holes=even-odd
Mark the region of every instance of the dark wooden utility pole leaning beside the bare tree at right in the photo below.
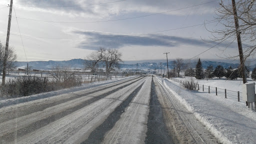
{"type": "Polygon", "coordinates": [[[245,74],[245,65],[244,65],[245,61],[243,59],[242,42],[241,42],[241,36],[240,36],[240,31],[239,31],[239,23],[238,23],[238,18],[237,18],[235,0],[232,0],[232,6],[233,6],[233,13],[234,13],[236,39],[237,39],[239,58],[240,58],[240,66],[241,66],[241,71],[242,71],[242,82],[246,83],[247,79],[246,79],[246,74],[245,74]]]}

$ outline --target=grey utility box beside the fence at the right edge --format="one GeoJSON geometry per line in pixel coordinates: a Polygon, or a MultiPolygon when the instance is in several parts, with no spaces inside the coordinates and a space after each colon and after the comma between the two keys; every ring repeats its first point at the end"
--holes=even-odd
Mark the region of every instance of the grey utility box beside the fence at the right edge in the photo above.
{"type": "Polygon", "coordinates": [[[242,86],[242,100],[248,102],[255,102],[254,83],[244,83],[242,86]]]}

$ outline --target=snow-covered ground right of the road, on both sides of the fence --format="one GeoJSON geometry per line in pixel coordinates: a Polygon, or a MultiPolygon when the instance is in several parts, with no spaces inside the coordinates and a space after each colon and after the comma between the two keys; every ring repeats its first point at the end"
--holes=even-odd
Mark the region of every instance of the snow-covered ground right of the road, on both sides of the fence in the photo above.
{"type": "MultiPolygon", "coordinates": [[[[255,143],[256,112],[246,107],[245,102],[216,96],[213,92],[187,90],[179,83],[166,78],[162,83],[220,142],[255,143]]],[[[198,83],[234,91],[241,90],[240,80],[198,80],[198,83]]]]}

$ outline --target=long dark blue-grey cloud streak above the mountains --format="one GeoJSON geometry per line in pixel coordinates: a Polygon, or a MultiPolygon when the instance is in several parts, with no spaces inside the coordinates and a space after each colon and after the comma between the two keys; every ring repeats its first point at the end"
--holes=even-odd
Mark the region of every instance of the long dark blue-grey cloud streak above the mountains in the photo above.
{"type": "Polygon", "coordinates": [[[98,49],[99,47],[121,48],[127,45],[175,47],[182,44],[209,47],[215,44],[214,42],[209,43],[198,39],[163,34],[125,36],[99,31],[73,30],[71,32],[78,34],[79,37],[82,37],[83,40],[77,44],[77,47],[83,49],[98,49]]]}

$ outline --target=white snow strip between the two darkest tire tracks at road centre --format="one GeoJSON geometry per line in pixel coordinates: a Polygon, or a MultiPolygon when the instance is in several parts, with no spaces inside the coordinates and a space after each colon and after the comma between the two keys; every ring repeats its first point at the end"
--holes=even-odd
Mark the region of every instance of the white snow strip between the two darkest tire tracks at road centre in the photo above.
{"type": "Polygon", "coordinates": [[[120,119],[104,135],[102,143],[144,143],[150,90],[151,77],[147,77],[137,95],[121,114],[120,119]]]}

